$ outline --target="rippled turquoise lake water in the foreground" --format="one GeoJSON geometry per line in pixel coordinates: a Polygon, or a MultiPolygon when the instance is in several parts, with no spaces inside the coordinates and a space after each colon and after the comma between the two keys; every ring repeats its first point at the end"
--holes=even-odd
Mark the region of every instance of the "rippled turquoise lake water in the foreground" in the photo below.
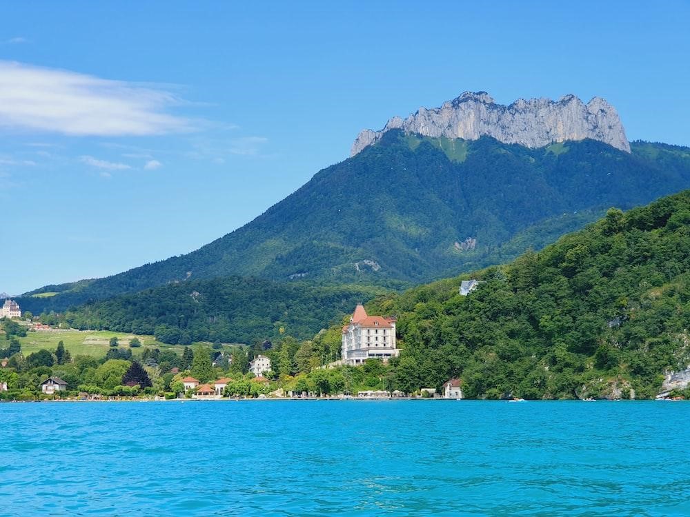
{"type": "Polygon", "coordinates": [[[690,403],[0,404],[0,515],[690,515],[690,403]]]}

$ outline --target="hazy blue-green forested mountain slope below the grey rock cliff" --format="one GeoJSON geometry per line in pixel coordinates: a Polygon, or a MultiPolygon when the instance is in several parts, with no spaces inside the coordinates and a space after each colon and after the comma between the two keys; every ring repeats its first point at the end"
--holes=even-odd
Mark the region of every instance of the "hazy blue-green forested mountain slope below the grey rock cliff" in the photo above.
{"type": "Polygon", "coordinates": [[[580,141],[528,149],[490,138],[391,131],[196,252],[108,278],[46,286],[30,294],[58,294],[20,303],[34,313],[64,310],[230,274],[391,288],[430,281],[536,249],[608,207],[627,209],[690,187],[687,148],[632,148],[628,154],[580,141]]]}

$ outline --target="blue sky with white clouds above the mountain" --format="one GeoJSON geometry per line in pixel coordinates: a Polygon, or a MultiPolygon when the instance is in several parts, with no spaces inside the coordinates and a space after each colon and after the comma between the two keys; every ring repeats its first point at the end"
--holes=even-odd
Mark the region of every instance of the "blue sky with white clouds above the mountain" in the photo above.
{"type": "Polygon", "coordinates": [[[690,144],[687,1],[33,1],[1,16],[10,294],[195,250],[346,159],[359,130],[465,90],[598,95],[629,139],[690,144]]]}

